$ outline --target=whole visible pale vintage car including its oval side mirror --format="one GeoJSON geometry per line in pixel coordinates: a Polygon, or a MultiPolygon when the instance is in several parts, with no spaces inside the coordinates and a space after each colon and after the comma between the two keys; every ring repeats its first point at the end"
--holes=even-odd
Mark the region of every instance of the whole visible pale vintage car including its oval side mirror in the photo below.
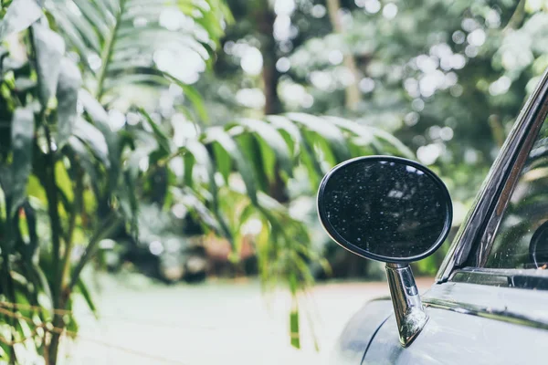
{"type": "Polygon", "coordinates": [[[390,297],[343,329],[332,364],[542,363],[548,349],[548,72],[525,103],[448,250],[419,295],[410,263],[448,235],[452,203],[427,167],[361,157],[328,172],[321,224],[385,262],[390,297]]]}

